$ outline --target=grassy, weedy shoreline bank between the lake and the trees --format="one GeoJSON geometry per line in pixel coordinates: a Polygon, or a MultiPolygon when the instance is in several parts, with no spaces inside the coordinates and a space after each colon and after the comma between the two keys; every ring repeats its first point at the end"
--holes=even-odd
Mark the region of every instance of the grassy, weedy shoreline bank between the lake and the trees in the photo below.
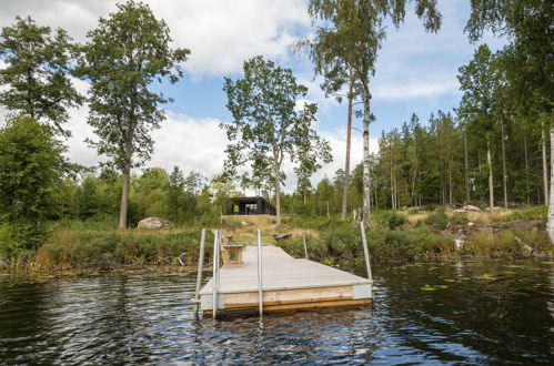
{"type": "MultiPolygon", "coordinates": [[[[367,242],[373,262],[410,262],[453,258],[552,258],[554,245],[544,232],[543,207],[503,213],[460,214],[392,212],[373,214],[367,242]],[[414,220],[416,217],[416,220],[414,220]],[[525,227],[521,227],[524,223],[525,227]],[[455,240],[462,241],[456,248],[455,240]]],[[[362,265],[361,233],[352,222],[338,217],[288,217],[281,227],[271,216],[225,217],[222,225],[235,241],[253,242],[256,227],[263,242],[303,257],[302,235],[310,260],[330,265],[362,265]],[[275,242],[272,234],[291,233],[275,242]]],[[[212,227],[215,228],[216,226],[212,227]]],[[[200,250],[200,227],[162,230],[114,228],[105,222],[61,222],[49,228],[46,242],[36,251],[0,256],[0,270],[30,272],[118,271],[125,268],[194,268],[200,250]]],[[[209,230],[205,263],[211,263],[213,234],[209,230]]]]}

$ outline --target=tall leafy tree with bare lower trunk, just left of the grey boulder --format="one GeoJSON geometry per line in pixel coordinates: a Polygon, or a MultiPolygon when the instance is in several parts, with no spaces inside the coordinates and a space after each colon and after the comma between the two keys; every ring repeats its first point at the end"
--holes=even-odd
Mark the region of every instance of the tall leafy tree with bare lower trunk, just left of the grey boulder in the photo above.
{"type": "Polygon", "coordinates": [[[179,63],[190,51],[171,49],[165,22],[132,0],[100,18],[88,38],[78,71],[92,84],[88,122],[100,138],[89,142],[123,172],[119,226],[125,227],[131,167],[150,159],[150,132],[164,120],[160,104],[171,101],[151,85],[164,78],[178,81],[179,63]]]}

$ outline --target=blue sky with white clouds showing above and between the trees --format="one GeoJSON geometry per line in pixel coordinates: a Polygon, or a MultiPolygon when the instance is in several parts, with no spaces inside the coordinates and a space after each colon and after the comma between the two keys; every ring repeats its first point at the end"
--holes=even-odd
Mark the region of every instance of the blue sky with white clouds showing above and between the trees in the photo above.
{"type": "MultiPolygon", "coordinates": [[[[154,153],[144,167],[179,166],[185,173],[198,171],[210,179],[221,172],[225,159],[226,138],[220,123],[232,121],[225,108],[223,78],[241,78],[242,63],[254,55],[291,68],[299,81],[309,87],[305,98],[318,103],[319,133],[330,141],[333,162],[314,174],[312,181],[332,179],[344,167],[346,105],[325,98],[321,79],[314,79],[306,55],[298,57],[291,45],[313,34],[308,16],[308,0],[151,0],[157,18],[164,19],[173,39],[172,47],[191,50],[183,64],[185,77],[175,84],[154,85],[155,90],[174,99],[165,104],[167,120],[153,132],[154,153]]],[[[95,28],[100,17],[115,10],[112,0],[0,0],[0,27],[14,22],[16,16],[31,16],[39,24],[63,28],[77,42],[87,41],[87,32],[95,28]]],[[[437,33],[426,33],[411,9],[405,22],[395,29],[387,26],[386,40],[377,54],[376,72],[371,80],[372,112],[371,150],[377,153],[382,131],[400,128],[412,113],[425,123],[437,110],[451,111],[461,99],[457,69],[466,64],[479,44],[471,44],[463,32],[470,16],[467,0],[439,0],[443,26],[437,33]]],[[[502,39],[485,34],[495,50],[502,39]]],[[[0,64],[1,68],[1,64],[0,64]]],[[[73,80],[75,88],[87,93],[84,81],[73,80]]],[[[84,143],[93,136],[87,124],[88,109],[70,111],[67,128],[73,135],[67,141],[68,155],[77,163],[94,166],[103,157],[84,143]]],[[[352,131],[352,163],[362,160],[361,120],[352,131]]],[[[288,175],[284,191],[294,190],[293,165],[285,163],[288,175]]],[[[143,169],[144,169],[143,167],[143,169]]]]}

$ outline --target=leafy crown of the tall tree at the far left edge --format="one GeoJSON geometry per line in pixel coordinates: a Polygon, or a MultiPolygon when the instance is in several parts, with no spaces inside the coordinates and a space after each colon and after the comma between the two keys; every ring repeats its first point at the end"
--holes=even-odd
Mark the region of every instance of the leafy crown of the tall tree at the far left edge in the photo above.
{"type": "Polygon", "coordinates": [[[80,105],[82,95],[70,79],[73,45],[62,29],[52,32],[30,17],[17,17],[11,27],[0,32],[0,103],[17,115],[48,122],[52,131],[69,135],[62,123],[68,109],[80,105]]]}

